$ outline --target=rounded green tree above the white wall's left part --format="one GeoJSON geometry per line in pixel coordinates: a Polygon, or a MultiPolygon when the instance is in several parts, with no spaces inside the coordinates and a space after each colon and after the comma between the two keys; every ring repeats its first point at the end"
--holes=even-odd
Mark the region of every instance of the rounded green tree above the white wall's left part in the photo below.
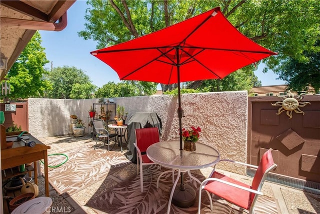
{"type": "Polygon", "coordinates": [[[52,90],[48,91],[50,98],[89,99],[96,89],[88,75],[75,67],[53,68],[47,78],[52,84],[52,90]]]}

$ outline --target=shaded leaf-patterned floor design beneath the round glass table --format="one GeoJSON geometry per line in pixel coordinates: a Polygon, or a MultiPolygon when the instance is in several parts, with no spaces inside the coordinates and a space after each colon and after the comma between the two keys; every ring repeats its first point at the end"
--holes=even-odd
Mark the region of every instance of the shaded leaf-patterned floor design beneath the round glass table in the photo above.
{"type": "MultiPolygon", "coordinates": [[[[117,213],[166,213],[169,194],[172,186],[171,173],[161,177],[159,188],[156,188],[156,180],[158,175],[167,169],[158,169],[155,165],[143,167],[143,192],[140,192],[140,177],[139,174],[126,181],[118,183],[105,193],[93,196],[87,206],[93,208],[96,212],[105,212],[108,214],[117,213]]],[[[193,174],[200,181],[203,176],[193,174]]],[[[176,173],[175,173],[176,178],[176,173]]],[[[192,180],[189,182],[189,176],[184,176],[184,182],[187,182],[196,190],[196,201],[191,207],[180,208],[171,204],[170,213],[197,213],[197,190],[199,184],[192,180]]],[[[213,198],[213,210],[209,209],[209,201],[207,194],[202,194],[201,213],[233,213],[239,214],[242,212],[238,208],[229,206],[224,200],[216,200],[213,198]]],[[[265,199],[265,198],[264,198],[265,199]]],[[[259,213],[277,213],[274,201],[268,200],[268,204],[259,205],[259,213]],[[268,206],[268,207],[265,207],[268,206]],[[270,212],[271,211],[271,212],[270,212]]],[[[259,199],[258,199],[259,201],[259,199]]],[[[245,213],[245,212],[243,212],[245,213]]]]}

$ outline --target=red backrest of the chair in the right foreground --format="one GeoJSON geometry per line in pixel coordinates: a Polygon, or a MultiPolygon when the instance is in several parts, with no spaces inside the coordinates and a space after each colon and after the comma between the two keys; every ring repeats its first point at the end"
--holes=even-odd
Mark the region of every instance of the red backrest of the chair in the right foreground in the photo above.
{"type": "MultiPolygon", "coordinates": [[[[252,189],[260,191],[262,188],[263,182],[265,180],[265,177],[267,176],[267,173],[277,166],[273,162],[271,151],[272,149],[270,148],[262,155],[262,158],[259,162],[258,168],[256,169],[256,172],[252,180],[252,184],[251,184],[252,189]]],[[[252,204],[252,201],[255,199],[254,198],[255,195],[256,194],[251,193],[249,204],[252,204]]]]}

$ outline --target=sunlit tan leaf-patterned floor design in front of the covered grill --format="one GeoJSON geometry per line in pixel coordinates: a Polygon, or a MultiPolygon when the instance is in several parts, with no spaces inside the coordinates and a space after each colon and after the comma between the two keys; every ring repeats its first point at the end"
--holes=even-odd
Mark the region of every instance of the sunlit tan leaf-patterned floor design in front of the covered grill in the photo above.
{"type": "MultiPolygon", "coordinates": [[[[50,184],[58,193],[75,192],[104,179],[109,173],[130,164],[123,153],[78,147],[63,152],[69,159],[57,168],[49,168],[50,184]]],[[[65,159],[64,156],[48,156],[48,165],[55,166],[65,159]]],[[[41,165],[43,171],[43,165],[41,165]]]]}

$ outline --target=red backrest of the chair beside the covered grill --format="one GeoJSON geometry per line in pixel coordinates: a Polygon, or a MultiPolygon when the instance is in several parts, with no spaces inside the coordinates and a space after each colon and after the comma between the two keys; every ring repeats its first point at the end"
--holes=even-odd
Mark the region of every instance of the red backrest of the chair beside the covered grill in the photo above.
{"type": "Polygon", "coordinates": [[[140,152],[145,152],[149,145],[160,141],[158,127],[134,129],[135,143],[140,152]]]}

